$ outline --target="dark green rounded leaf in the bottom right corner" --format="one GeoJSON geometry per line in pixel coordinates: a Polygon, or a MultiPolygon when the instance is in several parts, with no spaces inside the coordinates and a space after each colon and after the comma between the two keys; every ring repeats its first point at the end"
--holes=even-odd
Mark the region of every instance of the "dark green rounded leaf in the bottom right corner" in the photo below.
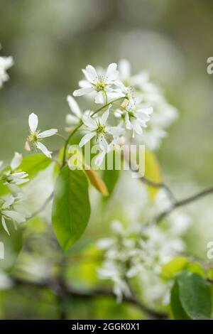
{"type": "Polygon", "coordinates": [[[190,271],[183,271],[176,280],[180,304],[187,316],[195,320],[209,319],[212,301],[207,281],[199,274],[190,271]]]}

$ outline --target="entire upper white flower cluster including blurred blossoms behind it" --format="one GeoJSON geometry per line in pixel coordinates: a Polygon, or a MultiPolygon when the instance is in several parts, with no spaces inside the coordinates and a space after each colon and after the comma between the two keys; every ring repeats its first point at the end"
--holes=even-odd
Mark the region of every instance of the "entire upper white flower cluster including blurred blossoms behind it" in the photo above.
{"type": "Polygon", "coordinates": [[[132,137],[136,143],[156,149],[177,111],[168,104],[160,88],[149,81],[148,74],[140,72],[131,76],[127,60],[121,60],[119,66],[111,63],[107,70],[87,65],[82,72],[84,80],[80,80],[80,89],[73,92],[74,97],[85,95],[102,107],[82,112],[75,99],[68,95],[72,114],[67,114],[67,130],[79,126],[87,132],[80,146],[95,139],[101,152],[99,164],[121,136],[127,142],[132,137]],[[97,112],[103,112],[102,116],[97,117],[97,112]]]}

